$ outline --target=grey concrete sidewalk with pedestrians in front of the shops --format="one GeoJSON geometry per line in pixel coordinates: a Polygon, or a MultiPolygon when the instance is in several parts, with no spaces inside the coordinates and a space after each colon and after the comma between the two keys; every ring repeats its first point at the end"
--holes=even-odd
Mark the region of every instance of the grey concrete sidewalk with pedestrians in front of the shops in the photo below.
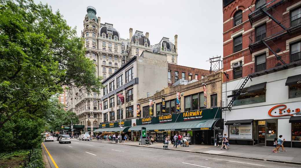
{"type": "MultiPolygon", "coordinates": [[[[96,139],[93,139],[92,142],[115,143],[115,141],[97,141],[96,139]]],[[[163,150],[163,142],[154,143],[152,145],[139,145],[138,141],[127,141],[119,144],[141,146],[146,148],[159,148],[163,150]]],[[[217,148],[213,145],[189,145],[188,147],[178,146],[177,148],[174,148],[173,145],[169,145],[168,149],[185,152],[194,152],[200,154],[214,154],[257,160],[268,160],[283,163],[301,164],[301,148],[284,148],[285,150],[287,150],[287,152],[282,152],[282,149],[279,148],[280,152],[273,153],[272,150],[274,149],[274,147],[264,146],[261,144],[257,144],[254,146],[230,145],[228,151],[225,149],[221,150],[220,147],[217,148]]]]}

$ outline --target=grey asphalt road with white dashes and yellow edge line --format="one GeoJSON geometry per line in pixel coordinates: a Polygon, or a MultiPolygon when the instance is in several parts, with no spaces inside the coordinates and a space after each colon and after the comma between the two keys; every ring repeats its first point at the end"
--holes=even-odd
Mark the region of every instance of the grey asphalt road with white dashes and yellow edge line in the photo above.
{"type": "MultiPolygon", "coordinates": [[[[183,151],[145,148],[130,145],[79,141],[71,139],[71,144],[58,141],[43,142],[49,154],[52,168],[69,167],[300,167],[296,164],[277,163],[212,154],[189,153],[183,151]]],[[[47,154],[48,155],[48,154],[47,154]]]]}

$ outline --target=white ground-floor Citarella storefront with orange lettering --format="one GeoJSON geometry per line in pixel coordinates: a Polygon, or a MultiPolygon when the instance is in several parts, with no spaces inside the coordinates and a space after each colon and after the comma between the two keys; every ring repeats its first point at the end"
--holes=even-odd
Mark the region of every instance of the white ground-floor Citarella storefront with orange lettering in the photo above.
{"type": "Polygon", "coordinates": [[[300,108],[300,102],[293,102],[231,110],[224,133],[230,144],[273,146],[274,138],[282,135],[284,147],[301,148],[300,108]]]}

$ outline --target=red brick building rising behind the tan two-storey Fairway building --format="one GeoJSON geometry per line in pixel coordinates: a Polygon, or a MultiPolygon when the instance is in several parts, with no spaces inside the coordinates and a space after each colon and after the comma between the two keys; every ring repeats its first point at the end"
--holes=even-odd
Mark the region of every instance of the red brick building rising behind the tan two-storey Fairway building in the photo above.
{"type": "Polygon", "coordinates": [[[173,83],[177,82],[180,79],[187,80],[188,82],[190,82],[194,79],[203,79],[209,74],[209,70],[168,64],[168,86],[172,86],[173,83]]]}

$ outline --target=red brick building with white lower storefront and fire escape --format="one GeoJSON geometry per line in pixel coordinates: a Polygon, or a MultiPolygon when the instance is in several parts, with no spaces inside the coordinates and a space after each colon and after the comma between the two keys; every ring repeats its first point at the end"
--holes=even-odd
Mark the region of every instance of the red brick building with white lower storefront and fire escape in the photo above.
{"type": "Polygon", "coordinates": [[[301,2],[224,0],[224,133],[230,144],[301,147],[301,2]]]}

